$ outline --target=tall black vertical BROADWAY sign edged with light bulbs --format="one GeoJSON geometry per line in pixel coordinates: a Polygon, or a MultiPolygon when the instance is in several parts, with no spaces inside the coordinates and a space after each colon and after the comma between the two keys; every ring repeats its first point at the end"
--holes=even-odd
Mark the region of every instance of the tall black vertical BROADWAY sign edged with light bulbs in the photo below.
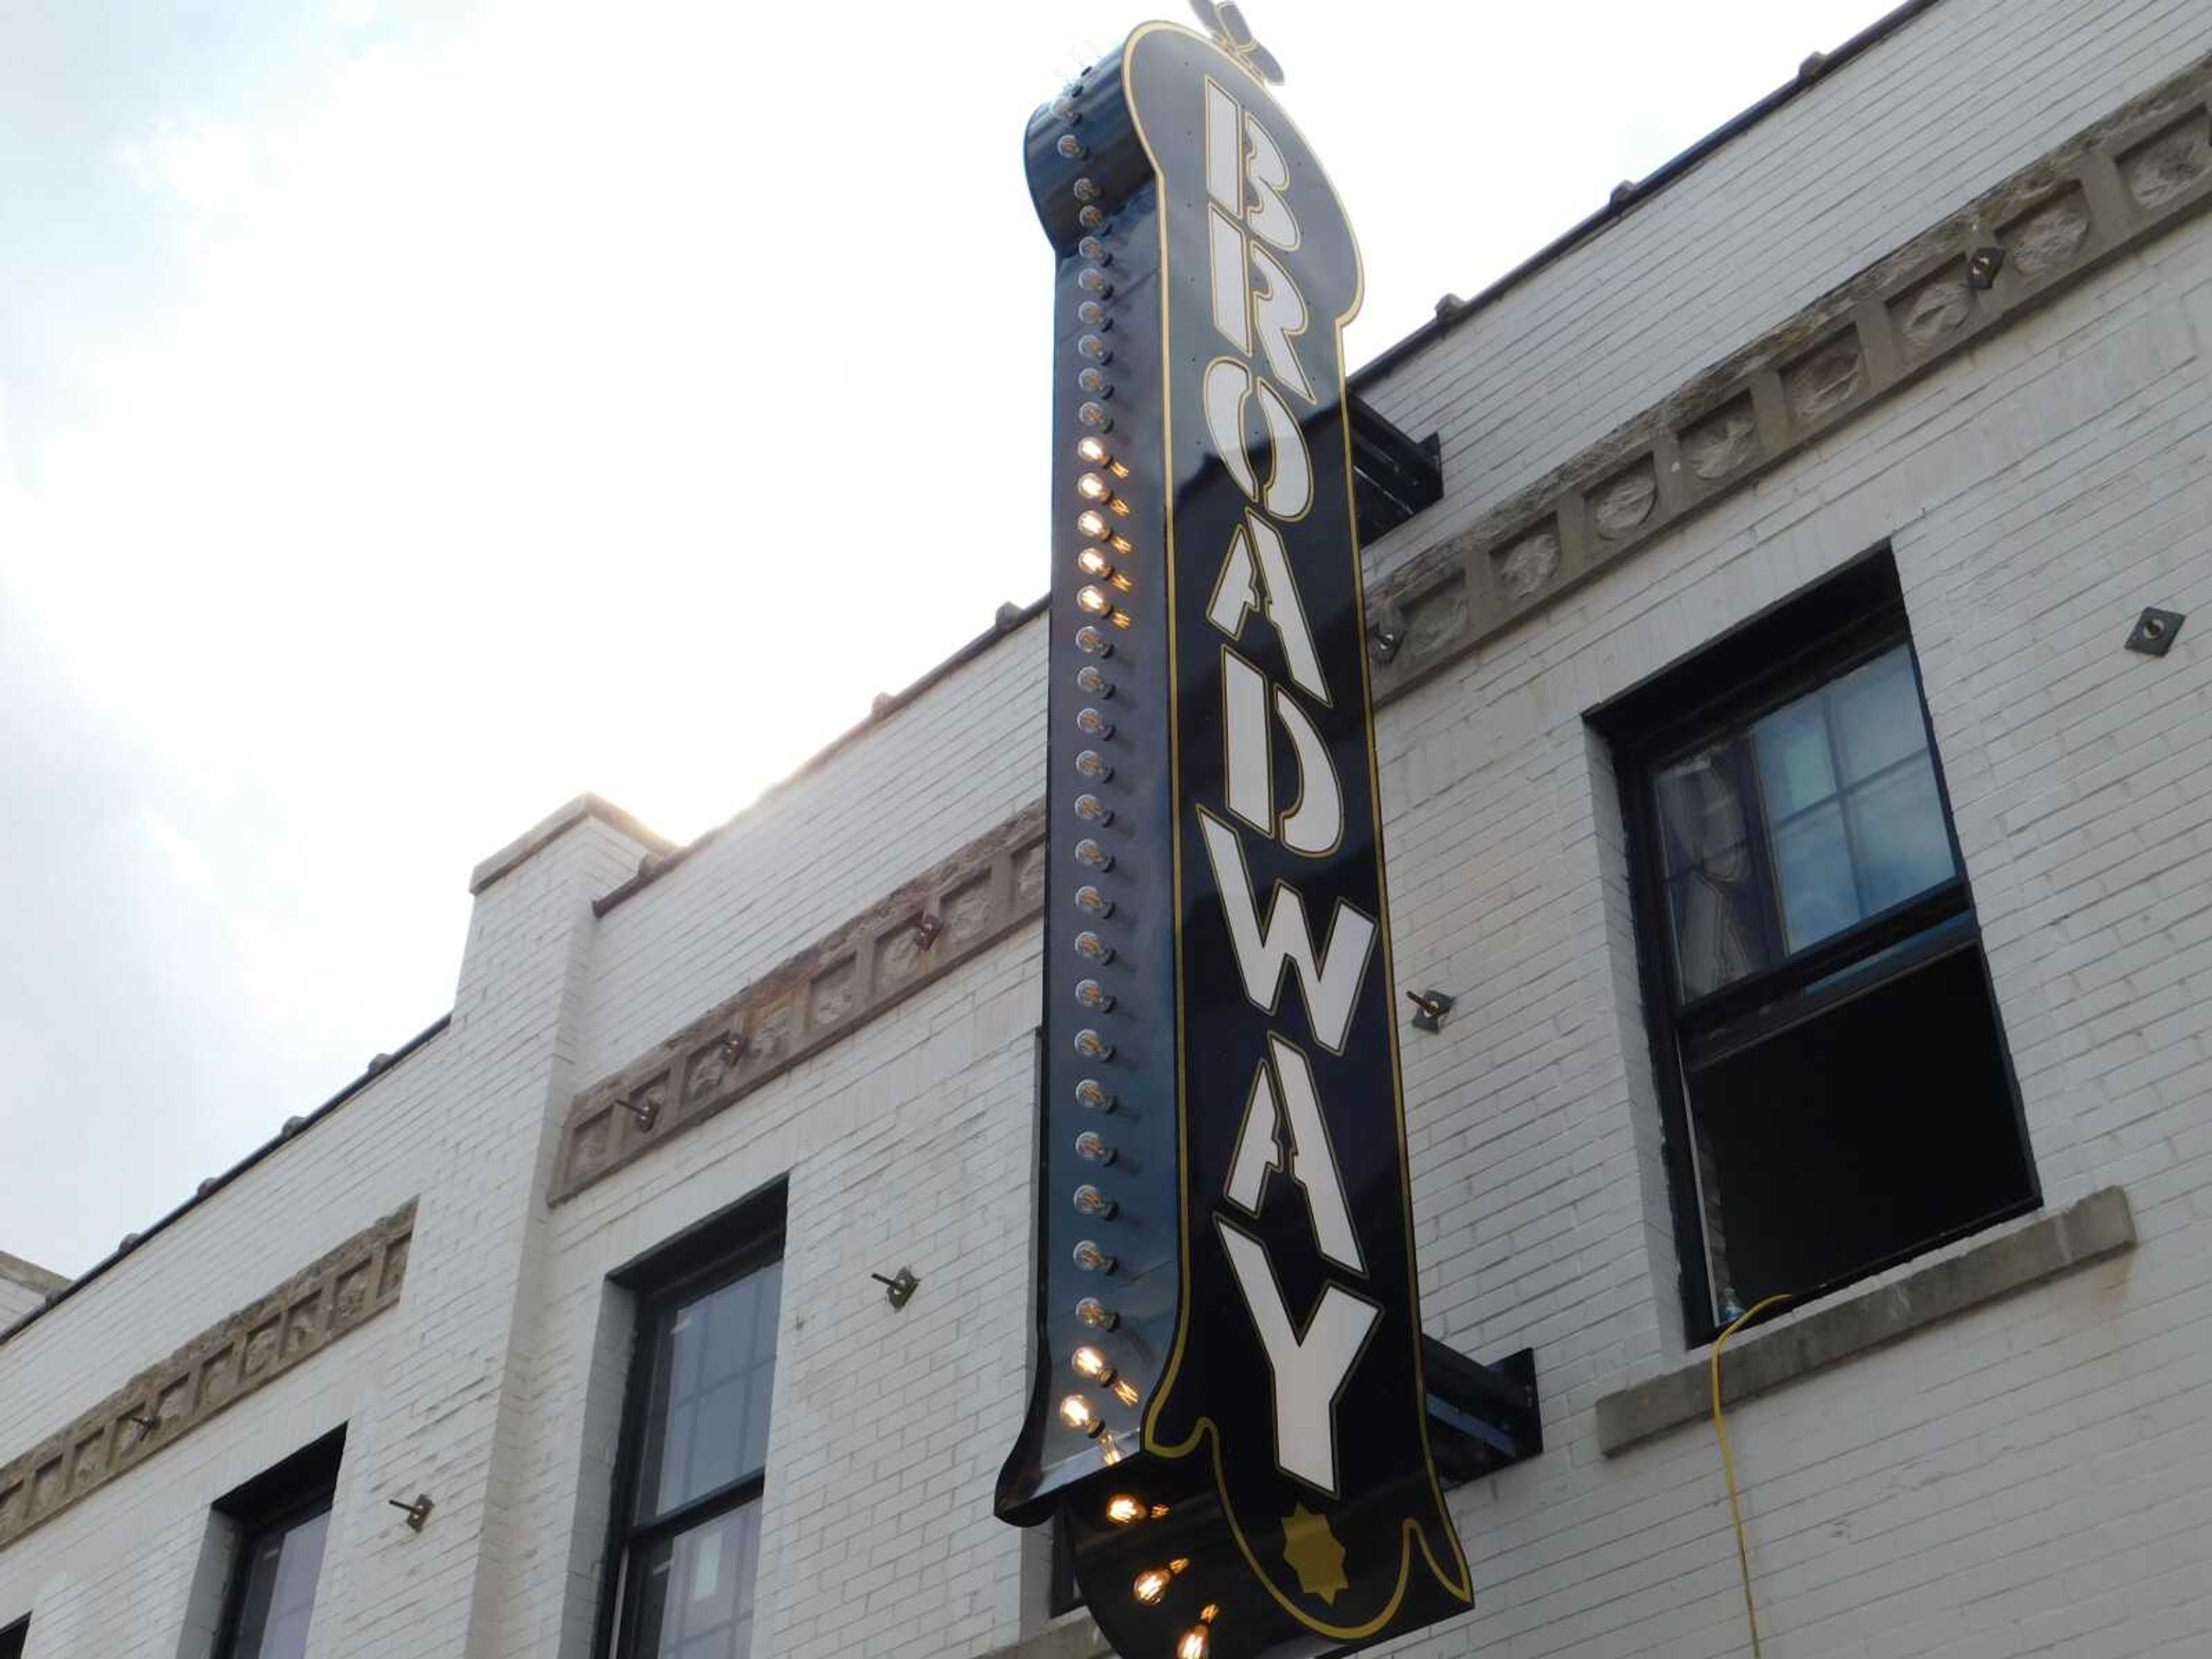
{"type": "Polygon", "coordinates": [[[1471,1606],[1427,1440],[1340,327],[1234,7],[1040,111],[1053,341],[1037,1367],[998,1511],[1128,1659],[1471,1606]]]}

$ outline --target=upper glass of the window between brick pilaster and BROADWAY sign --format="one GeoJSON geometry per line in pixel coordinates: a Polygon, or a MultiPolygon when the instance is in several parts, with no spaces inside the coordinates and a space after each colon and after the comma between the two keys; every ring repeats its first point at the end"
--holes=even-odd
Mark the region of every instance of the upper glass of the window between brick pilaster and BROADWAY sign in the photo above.
{"type": "Polygon", "coordinates": [[[666,1515],[768,1460],[781,1283],[783,1263],[770,1263],[670,1312],[646,1422],[639,1517],[666,1515]]]}

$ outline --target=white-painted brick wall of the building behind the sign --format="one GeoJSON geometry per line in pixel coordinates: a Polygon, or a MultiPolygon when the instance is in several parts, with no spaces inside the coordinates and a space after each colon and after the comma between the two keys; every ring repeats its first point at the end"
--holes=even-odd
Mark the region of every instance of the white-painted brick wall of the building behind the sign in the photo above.
{"type": "MultiPolygon", "coordinates": [[[[2172,0],[1944,0],[1396,372],[1431,544],[2035,150],[2212,46],[2172,0]]],[[[1595,117],[1593,117],[1595,119],[1595,117]]],[[[1385,710],[1429,1325],[1535,1345],[1548,1451],[1458,1493],[1480,1610],[1407,1652],[1747,1648],[1708,1431],[1599,1455],[1683,1358],[1615,785],[1584,712],[1889,540],[2048,1203],[2130,1256],[1734,1411],[1774,1659],[2212,1650],[2212,226],[2121,261],[1385,710]],[[2201,622],[2192,622],[2192,628],[2201,622]]],[[[741,732],[732,732],[741,741],[741,732]]],[[[790,1179],[754,1652],[978,1655],[1035,1548],[1024,1402],[1035,936],[544,1206],[571,1095],[1042,774],[1042,624],[593,920],[593,821],[478,900],[447,1033],[0,1347],[0,1458],[409,1197],[398,1307],[0,1551],[33,1659],[197,1659],[208,1502],[347,1425],[316,1659],[584,1659],[630,1310],[606,1274],[790,1179]],[[920,1292],[883,1303],[869,1272],[920,1292]],[[418,1537],[385,1509],[429,1491],[418,1537]],[[197,1646],[195,1646],[197,1644],[197,1646]]],[[[1756,1340],[1756,1338],[1747,1338],[1756,1340]]]]}

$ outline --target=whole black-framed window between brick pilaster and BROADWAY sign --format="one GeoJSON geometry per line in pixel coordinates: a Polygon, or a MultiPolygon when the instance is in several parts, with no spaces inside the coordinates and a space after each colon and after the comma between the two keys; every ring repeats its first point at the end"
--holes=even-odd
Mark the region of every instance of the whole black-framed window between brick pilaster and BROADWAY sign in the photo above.
{"type": "Polygon", "coordinates": [[[783,1287],[774,1230],[745,1206],[630,1276],[639,1285],[617,1513],[622,1659],[745,1659],[761,1548],[783,1287]],[[728,1234],[734,1250],[712,1254],[728,1234]],[[706,1256],[706,1261],[701,1261],[706,1256]]]}

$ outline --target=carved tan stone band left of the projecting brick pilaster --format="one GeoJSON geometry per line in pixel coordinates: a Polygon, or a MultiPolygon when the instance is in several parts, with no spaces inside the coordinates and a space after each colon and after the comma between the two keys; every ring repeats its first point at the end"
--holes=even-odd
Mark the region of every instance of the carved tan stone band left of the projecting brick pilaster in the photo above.
{"type": "Polygon", "coordinates": [[[409,1199],[0,1464],[0,1551],[392,1307],[414,1212],[409,1199]]]}

